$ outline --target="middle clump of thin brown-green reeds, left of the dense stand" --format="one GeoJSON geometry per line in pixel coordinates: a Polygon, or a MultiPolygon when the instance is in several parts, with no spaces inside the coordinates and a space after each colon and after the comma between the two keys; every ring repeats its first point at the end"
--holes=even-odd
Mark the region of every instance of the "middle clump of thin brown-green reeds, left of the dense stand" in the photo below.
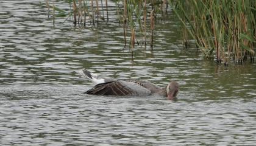
{"type": "Polygon", "coordinates": [[[116,1],[118,12],[123,14],[123,18],[120,22],[123,23],[124,29],[124,44],[126,46],[126,36],[130,36],[130,45],[133,50],[134,45],[145,46],[147,43],[147,38],[150,37],[150,46],[153,49],[154,46],[154,27],[157,14],[162,14],[163,17],[168,11],[168,5],[166,0],[123,0],[116,1]],[[161,10],[165,7],[165,11],[161,10]],[[121,9],[123,8],[123,9],[121,9]],[[148,23],[149,22],[149,23],[148,23]],[[135,37],[137,36],[137,37],[135,37]],[[136,39],[140,38],[140,39],[136,39]],[[137,43],[133,43],[135,39],[137,43]]]}

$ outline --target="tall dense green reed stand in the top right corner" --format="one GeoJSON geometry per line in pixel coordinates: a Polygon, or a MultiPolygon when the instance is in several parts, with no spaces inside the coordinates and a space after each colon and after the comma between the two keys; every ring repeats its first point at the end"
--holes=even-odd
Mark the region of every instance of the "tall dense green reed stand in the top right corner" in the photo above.
{"type": "Polygon", "coordinates": [[[247,0],[169,0],[188,35],[207,58],[218,63],[254,61],[256,2],[247,0]]]}

